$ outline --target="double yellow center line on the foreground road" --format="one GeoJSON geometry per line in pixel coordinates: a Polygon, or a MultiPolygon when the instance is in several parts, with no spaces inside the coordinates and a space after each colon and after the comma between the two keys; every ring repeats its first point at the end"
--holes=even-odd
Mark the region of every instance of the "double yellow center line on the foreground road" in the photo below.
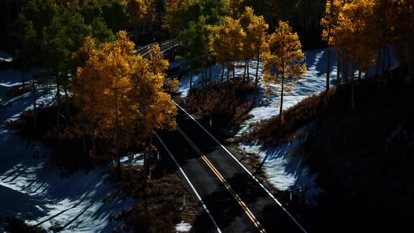
{"type": "Polygon", "coordinates": [[[211,164],[211,161],[209,161],[207,159],[207,157],[205,155],[203,155],[203,153],[200,151],[200,149],[198,147],[196,147],[194,142],[192,142],[192,140],[190,140],[187,137],[187,135],[185,135],[185,133],[181,130],[180,127],[176,126],[176,128],[177,128],[178,132],[180,132],[181,135],[185,138],[185,140],[187,140],[187,142],[189,142],[189,145],[191,145],[196,150],[196,152],[200,155],[201,159],[203,159],[203,161],[207,164],[207,166],[211,169],[211,171],[213,171],[213,173],[217,176],[217,178],[220,180],[220,182],[222,182],[222,184],[225,185],[225,188],[227,190],[229,190],[230,194],[232,194],[234,199],[236,199],[237,203],[239,203],[241,208],[243,208],[243,211],[248,215],[248,218],[250,218],[250,220],[253,222],[253,225],[255,225],[255,227],[259,230],[259,232],[265,233],[266,230],[262,227],[262,225],[260,225],[260,222],[258,221],[258,219],[255,217],[255,215],[253,215],[253,213],[249,210],[249,208],[246,206],[246,204],[244,204],[244,202],[241,200],[239,195],[236,194],[236,192],[234,192],[232,187],[230,187],[229,183],[218,172],[218,170],[215,168],[215,166],[213,166],[213,164],[211,164]]]}

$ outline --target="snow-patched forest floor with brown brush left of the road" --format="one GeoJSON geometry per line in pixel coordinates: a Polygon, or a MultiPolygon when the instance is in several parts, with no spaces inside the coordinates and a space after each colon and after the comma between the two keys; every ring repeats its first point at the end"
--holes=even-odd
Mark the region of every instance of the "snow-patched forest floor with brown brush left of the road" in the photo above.
{"type": "MultiPolygon", "coordinates": [[[[25,77],[31,78],[29,74],[25,77]]],[[[142,201],[142,194],[133,193],[135,186],[126,188],[125,182],[111,174],[111,157],[95,158],[99,160],[96,163],[87,158],[85,163],[81,145],[72,143],[76,141],[76,127],[53,136],[53,88],[36,91],[36,102],[41,106],[39,130],[29,130],[33,94],[32,90],[20,91],[21,79],[18,68],[0,69],[1,232],[112,232],[142,226],[147,232],[159,232],[159,227],[178,232],[191,229],[196,208],[189,199],[185,211],[180,211],[187,191],[175,170],[153,177],[145,192],[156,195],[142,201]],[[154,203],[161,207],[146,209],[147,215],[140,215],[140,205],[154,203]]],[[[65,128],[65,121],[62,124],[65,128]]],[[[142,170],[142,157],[138,155],[122,157],[123,166],[142,170]]]]}

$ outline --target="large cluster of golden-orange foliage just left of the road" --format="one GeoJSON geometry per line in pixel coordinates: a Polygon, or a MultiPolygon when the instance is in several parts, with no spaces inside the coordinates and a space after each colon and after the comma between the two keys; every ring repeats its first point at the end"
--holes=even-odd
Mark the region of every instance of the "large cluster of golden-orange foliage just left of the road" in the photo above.
{"type": "Polygon", "coordinates": [[[159,46],[150,48],[150,60],[134,55],[134,46],[124,31],[99,48],[87,38],[80,51],[88,54],[88,60],[78,68],[72,90],[89,123],[119,146],[175,126],[176,108],[164,88],[168,61],[159,46]]]}

